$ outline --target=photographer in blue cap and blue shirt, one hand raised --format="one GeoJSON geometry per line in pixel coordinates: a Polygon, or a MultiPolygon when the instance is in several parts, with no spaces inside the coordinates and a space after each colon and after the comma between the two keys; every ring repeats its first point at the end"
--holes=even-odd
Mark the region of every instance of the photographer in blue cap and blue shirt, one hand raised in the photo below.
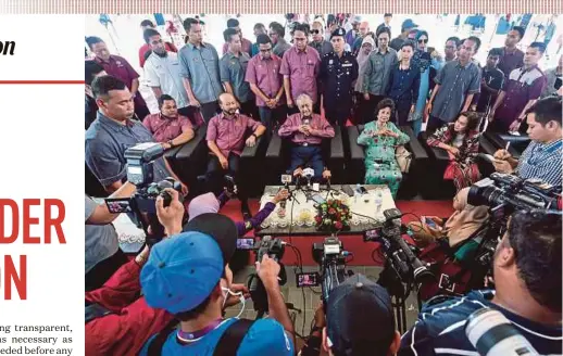
{"type": "Polygon", "coordinates": [[[226,216],[207,213],[152,247],[140,283],[147,304],[175,315],[179,327],[153,336],[140,355],[293,355],[293,326],[279,290],[279,265],[264,256],[257,263],[266,290],[270,318],[251,321],[223,318],[246,287],[233,283],[228,262],[237,228],[226,216]]]}

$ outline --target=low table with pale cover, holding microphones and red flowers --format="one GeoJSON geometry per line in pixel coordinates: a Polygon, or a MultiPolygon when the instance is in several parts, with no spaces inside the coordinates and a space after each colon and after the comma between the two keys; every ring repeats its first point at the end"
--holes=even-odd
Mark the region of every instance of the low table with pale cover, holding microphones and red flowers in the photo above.
{"type": "MultiPolygon", "coordinates": [[[[331,186],[330,192],[326,186],[321,186],[320,191],[315,192],[302,187],[296,190],[296,186],[290,186],[289,189],[293,191],[295,199],[286,202],[286,217],[278,216],[280,203],[277,204],[276,209],[262,224],[261,229],[255,230],[257,236],[328,236],[328,231],[317,230],[314,224],[316,216],[316,203],[312,200],[313,195],[320,194],[323,199],[338,199],[342,200],[352,212],[352,220],[350,229],[340,231],[338,234],[361,234],[365,230],[379,227],[385,217],[383,213],[388,208],[396,207],[391,191],[387,186],[363,185],[366,193],[358,198],[349,196],[342,191],[343,186],[331,186]],[[309,196],[309,199],[308,199],[309,196]],[[377,204],[377,196],[380,196],[380,204],[377,204]],[[299,217],[302,211],[309,211],[310,217],[306,223],[303,223],[299,217]],[[354,214],[356,213],[356,214],[354,214]],[[359,215],[360,214],[360,215],[359,215]],[[291,217],[292,215],[292,217],[291,217]]],[[[283,186],[266,186],[264,194],[260,199],[260,208],[272,201],[272,198],[278,192],[283,186]]],[[[352,190],[355,190],[355,185],[350,185],[352,190]]],[[[305,213],[306,214],[306,213],[305,213]]]]}

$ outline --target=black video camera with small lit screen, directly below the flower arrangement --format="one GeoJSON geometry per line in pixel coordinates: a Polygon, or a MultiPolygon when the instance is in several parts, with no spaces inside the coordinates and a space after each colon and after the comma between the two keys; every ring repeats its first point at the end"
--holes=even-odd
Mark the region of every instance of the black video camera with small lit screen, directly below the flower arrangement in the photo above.
{"type": "Polygon", "coordinates": [[[326,304],[330,291],[340,285],[347,278],[346,256],[342,242],[336,237],[325,238],[321,243],[313,243],[313,259],[318,264],[321,272],[315,274],[316,285],[321,282],[322,298],[326,304]]]}

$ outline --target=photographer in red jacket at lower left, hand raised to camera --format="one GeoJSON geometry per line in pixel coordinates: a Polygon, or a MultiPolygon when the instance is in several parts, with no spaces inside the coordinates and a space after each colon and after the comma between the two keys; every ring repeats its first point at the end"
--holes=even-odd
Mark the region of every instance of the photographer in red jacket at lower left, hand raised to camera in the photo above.
{"type": "MultiPolygon", "coordinates": [[[[123,187],[127,186],[132,185],[123,187]]],[[[184,206],[178,201],[178,192],[167,191],[172,203],[164,207],[163,199],[159,198],[157,214],[171,236],[182,230],[184,206]]],[[[163,309],[149,307],[145,297],[139,297],[139,275],[148,258],[149,247],[146,246],[135,259],[117,269],[103,287],[86,293],[86,355],[136,355],[151,335],[174,319],[163,309]]]]}

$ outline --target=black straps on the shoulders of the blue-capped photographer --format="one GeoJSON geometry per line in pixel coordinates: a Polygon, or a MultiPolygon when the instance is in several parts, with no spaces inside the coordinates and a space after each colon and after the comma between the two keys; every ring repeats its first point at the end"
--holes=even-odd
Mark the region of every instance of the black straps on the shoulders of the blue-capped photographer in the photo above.
{"type": "MultiPolygon", "coordinates": [[[[172,320],[161,332],[150,341],[148,346],[148,355],[151,356],[161,356],[162,347],[164,343],[168,339],[168,336],[175,332],[176,326],[178,321],[172,320]]],[[[213,356],[236,356],[238,347],[242,343],[242,339],[245,339],[248,330],[254,320],[248,319],[238,319],[233,322],[227,329],[223,332],[217,344],[215,346],[215,351],[213,352],[213,356]]]]}

